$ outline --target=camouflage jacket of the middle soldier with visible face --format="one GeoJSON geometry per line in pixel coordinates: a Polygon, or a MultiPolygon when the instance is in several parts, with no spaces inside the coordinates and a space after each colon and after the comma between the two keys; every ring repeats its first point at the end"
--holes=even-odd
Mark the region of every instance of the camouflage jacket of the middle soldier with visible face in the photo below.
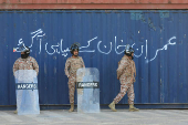
{"type": "Polygon", "coordinates": [[[64,72],[67,77],[70,76],[76,76],[76,71],[81,67],[85,67],[84,61],[81,56],[77,58],[69,58],[65,63],[64,72]]]}

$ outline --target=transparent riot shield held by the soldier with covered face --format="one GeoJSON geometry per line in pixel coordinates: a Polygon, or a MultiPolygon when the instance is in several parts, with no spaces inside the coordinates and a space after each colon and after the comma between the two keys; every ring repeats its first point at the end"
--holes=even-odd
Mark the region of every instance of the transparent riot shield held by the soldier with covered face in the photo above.
{"type": "Polygon", "coordinates": [[[18,115],[40,114],[36,72],[18,70],[14,77],[18,115]]]}

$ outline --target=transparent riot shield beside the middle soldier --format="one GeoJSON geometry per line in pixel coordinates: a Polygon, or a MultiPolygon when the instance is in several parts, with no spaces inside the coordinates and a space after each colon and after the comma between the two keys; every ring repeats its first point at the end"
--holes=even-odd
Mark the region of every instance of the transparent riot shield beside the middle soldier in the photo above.
{"type": "Polygon", "coordinates": [[[77,112],[100,113],[100,72],[94,67],[76,72],[77,112]]]}

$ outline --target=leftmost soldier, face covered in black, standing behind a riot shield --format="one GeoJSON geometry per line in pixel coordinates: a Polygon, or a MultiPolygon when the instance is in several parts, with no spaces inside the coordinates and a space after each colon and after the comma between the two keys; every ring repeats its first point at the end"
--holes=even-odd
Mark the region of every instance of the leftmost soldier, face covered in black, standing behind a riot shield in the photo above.
{"type": "MultiPolygon", "coordinates": [[[[39,73],[39,65],[35,59],[30,55],[30,49],[28,46],[20,46],[21,58],[19,58],[13,64],[13,75],[18,70],[34,70],[36,74],[39,73]]],[[[18,113],[17,111],[14,112],[18,113]]]]}

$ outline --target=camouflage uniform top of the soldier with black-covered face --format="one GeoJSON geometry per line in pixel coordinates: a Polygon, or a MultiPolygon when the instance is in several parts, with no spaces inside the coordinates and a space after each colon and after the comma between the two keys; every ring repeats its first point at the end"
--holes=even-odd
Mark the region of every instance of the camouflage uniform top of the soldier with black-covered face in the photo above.
{"type": "Polygon", "coordinates": [[[35,59],[28,56],[27,59],[19,58],[13,64],[13,74],[18,70],[34,70],[39,73],[39,65],[35,59]]]}

